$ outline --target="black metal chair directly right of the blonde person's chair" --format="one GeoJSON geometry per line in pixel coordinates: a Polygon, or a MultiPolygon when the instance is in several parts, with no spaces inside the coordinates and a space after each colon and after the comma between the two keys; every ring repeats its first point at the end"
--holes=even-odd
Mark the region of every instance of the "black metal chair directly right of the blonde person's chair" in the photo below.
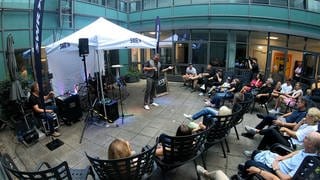
{"type": "MultiPolygon", "coordinates": [[[[195,172],[197,172],[196,158],[202,157],[204,143],[208,130],[200,131],[188,136],[169,136],[161,134],[159,143],[162,145],[163,156],[155,158],[156,163],[162,170],[163,176],[166,172],[182,166],[190,161],[194,162],[195,172]]],[[[204,163],[204,159],[202,157],[204,163]]],[[[198,179],[200,178],[197,173],[198,179]]]]}

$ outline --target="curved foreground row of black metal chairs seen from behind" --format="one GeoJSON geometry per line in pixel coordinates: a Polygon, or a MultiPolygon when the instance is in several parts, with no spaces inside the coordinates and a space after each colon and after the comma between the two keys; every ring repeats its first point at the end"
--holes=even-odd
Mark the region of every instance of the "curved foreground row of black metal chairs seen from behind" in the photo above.
{"type": "MultiPolygon", "coordinates": [[[[223,147],[223,141],[229,146],[226,137],[229,135],[231,128],[235,127],[243,118],[243,111],[240,104],[233,108],[233,113],[228,116],[212,117],[216,123],[207,124],[207,129],[189,136],[169,136],[161,135],[157,139],[155,145],[150,148],[145,148],[143,152],[134,156],[117,159],[117,160],[102,160],[94,158],[86,154],[91,166],[75,172],[74,169],[69,168],[67,162],[51,167],[47,163],[42,163],[41,167],[46,166],[46,169],[37,169],[34,172],[23,172],[12,166],[12,162],[7,163],[6,158],[2,158],[2,165],[7,172],[14,176],[25,179],[87,179],[88,175],[99,179],[145,179],[152,175],[155,169],[155,163],[161,168],[163,175],[171,169],[179,167],[187,162],[193,161],[195,168],[197,166],[196,159],[202,158],[202,163],[206,167],[204,154],[207,154],[208,149],[220,143],[223,148],[224,157],[226,153],[223,147]],[[160,143],[163,147],[163,157],[156,157],[155,150],[160,143]],[[96,176],[93,173],[93,170],[96,176]],[[78,175],[78,177],[74,177],[78,175]],[[80,176],[79,176],[80,175],[80,176]]],[[[197,171],[195,171],[197,172],[197,171]]],[[[197,174],[198,175],[198,174],[197,174]]],[[[198,175],[199,178],[199,175],[198,175]]]]}

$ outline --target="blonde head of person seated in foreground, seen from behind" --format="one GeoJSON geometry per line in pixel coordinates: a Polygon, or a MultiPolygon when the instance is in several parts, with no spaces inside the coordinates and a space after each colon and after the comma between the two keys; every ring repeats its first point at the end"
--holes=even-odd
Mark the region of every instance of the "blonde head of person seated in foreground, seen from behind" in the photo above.
{"type": "Polygon", "coordinates": [[[108,159],[122,159],[134,155],[130,143],[124,139],[117,138],[112,141],[108,148],[108,159]]]}

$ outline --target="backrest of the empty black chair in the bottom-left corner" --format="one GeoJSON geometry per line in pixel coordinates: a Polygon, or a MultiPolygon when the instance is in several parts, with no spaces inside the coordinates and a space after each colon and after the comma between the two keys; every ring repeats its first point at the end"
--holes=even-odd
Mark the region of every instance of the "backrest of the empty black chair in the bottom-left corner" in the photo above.
{"type": "Polygon", "coordinates": [[[39,170],[34,172],[19,171],[13,169],[12,165],[3,163],[4,168],[18,179],[30,179],[30,180],[43,180],[43,179],[59,179],[59,180],[72,180],[72,176],[69,170],[68,163],[66,161],[57,165],[56,167],[39,170]]]}

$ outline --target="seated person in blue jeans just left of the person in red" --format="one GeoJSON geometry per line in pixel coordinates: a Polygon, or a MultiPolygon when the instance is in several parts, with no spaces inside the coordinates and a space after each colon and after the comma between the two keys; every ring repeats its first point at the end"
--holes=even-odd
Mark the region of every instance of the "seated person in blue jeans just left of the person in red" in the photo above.
{"type": "Polygon", "coordinates": [[[233,98],[234,94],[241,90],[241,83],[238,78],[233,79],[229,87],[224,86],[224,84],[225,83],[221,85],[220,91],[216,92],[214,96],[211,97],[210,101],[205,101],[207,106],[219,108],[222,99],[233,98]]]}

